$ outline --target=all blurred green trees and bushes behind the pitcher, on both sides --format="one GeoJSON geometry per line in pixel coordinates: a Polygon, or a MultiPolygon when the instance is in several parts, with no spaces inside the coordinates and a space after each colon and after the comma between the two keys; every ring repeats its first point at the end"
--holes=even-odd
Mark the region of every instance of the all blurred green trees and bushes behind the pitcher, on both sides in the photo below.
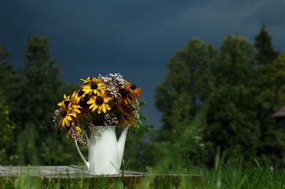
{"type": "MultiPolygon", "coordinates": [[[[24,68],[16,70],[0,45],[0,164],[83,164],[73,140],[52,122],[63,94],[78,85],[61,80],[48,38],[28,38],[24,55],[24,68]]],[[[123,166],[145,171],[165,154],[172,154],[169,168],[214,166],[217,148],[226,163],[266,158],[284,165],[284,121],[272,117],[285,105],[284,83],[285,53],[274,50],[265,26],[254,43],[229,35],[214,48],[191,38],[157,85],[162,127],[141,114],[142,124],[128,132],[123,166]]]]}

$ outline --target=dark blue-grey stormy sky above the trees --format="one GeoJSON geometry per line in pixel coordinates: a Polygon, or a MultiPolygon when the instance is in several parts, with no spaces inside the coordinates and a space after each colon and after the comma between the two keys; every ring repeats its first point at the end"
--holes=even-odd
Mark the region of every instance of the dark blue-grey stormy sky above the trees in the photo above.
{"type": "Polygon", "coordinates": [[[24,65],[28,36],[51,40],[63,80],[119,72],[143,88],[142,112],[160,125],[154,106],[155,86],[167,60],[190,38],[218,48],[229,33],[250,41],[265,23],[274,47],[284,50],[285,1],[75,1],[0,0],[0,44],[9,63],[24,65]]]}

